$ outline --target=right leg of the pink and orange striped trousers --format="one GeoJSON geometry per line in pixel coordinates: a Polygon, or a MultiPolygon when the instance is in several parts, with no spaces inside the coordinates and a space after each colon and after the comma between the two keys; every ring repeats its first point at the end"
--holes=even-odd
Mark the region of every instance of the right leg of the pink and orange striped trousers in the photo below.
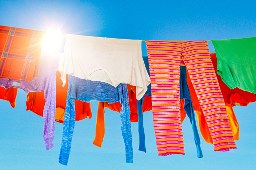
{"type": "Polygon", "coordinates": [[[236,148],[207,42],[182,42],[182,58],[209,127],[214,150],[236,148]]]}

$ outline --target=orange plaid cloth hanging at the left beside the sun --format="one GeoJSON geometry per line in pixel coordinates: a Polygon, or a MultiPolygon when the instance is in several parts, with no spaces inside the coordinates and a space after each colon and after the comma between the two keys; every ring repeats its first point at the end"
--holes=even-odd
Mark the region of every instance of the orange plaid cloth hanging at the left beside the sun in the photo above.
{"type": "Polygon", "coordinates": [[[0,77],[31,81],[38,74],[45,32],[0,26],[0,77]]]}

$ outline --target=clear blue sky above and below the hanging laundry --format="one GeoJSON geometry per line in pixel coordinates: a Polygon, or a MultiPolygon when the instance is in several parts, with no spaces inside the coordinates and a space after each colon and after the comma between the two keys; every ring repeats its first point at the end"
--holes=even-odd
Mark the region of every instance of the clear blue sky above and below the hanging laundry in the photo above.
{"type": "MultiPolygon", "coordinates": [[[[0,1],[0,25],[96,37],[139,40],[219,40],[256,36],[255,1],[0,1]]],[[[210,52],[214,52],[209,43],[210,52]]],[[[142,44],[146,56],[145,43],[142,44]]],[[[98,103],[92,119],[75,123],[68,165],[58,163],[63,124],[56,123],[54,147],[46,151],[43,118],[26,111],[27,95],[18,90],[16,108],[0,101],[1,169],[252,169],[256,160],[256,103],[235,106],[240,125],[237,149],[215,152],[201,138],[197,158],[189,119],[183,123],[186,155],[158,156],[152,111],[144,113],[147,152],[138,151],[132,123],[134,162],[125,163],[119,113],[106,109],[102,148],[93,145],[98,103]]],[[[201,135],[200,135],[201,136],[201,135]]]]}

